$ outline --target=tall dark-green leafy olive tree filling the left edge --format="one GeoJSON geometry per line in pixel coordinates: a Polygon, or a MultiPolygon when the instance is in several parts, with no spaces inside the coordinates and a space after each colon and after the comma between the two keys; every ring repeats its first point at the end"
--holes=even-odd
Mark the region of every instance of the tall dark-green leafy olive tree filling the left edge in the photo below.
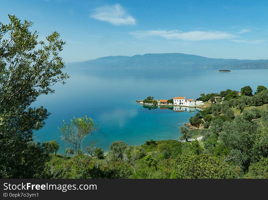
{"type": "Polygon", "coordinates": [[[0,177],[32,178],[32,170],[41,170],[46,156],[39,144],[29,142],[49,113],[42,106],[30,106],[69,77],[62,72],[65,64],[58,55],[65,42],[57,32],[46,37],[46,43],[37,42],[37,31],[30,31],[32,22],[14,15],[9,19],[9,24],[0,22],[0,177]]]}

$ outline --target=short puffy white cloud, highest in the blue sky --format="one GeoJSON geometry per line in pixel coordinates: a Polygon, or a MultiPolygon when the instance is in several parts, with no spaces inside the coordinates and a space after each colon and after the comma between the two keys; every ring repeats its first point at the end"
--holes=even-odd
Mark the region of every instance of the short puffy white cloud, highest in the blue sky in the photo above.
{"type": "Polygon", "coordinates": [[[120,4],[96,8],[91,17],[116,26],[136,24],[136,19],[130,16],[120,4]]]}

